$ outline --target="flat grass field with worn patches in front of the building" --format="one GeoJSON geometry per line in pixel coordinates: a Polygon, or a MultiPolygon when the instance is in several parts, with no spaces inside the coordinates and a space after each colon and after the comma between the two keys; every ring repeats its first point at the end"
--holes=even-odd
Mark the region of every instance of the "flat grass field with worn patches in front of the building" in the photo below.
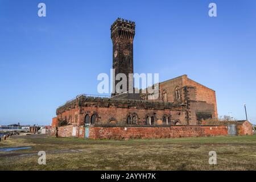
{"type": "Polygon", "coordinates": [[[11,137],[0,148],[1,170],[256,170],[256,135],[145,140],[11,137]],[[37,155],[46,151],[46,165],[37,155]],[[217,152],[210,165],[209,151],[217,152]]]}

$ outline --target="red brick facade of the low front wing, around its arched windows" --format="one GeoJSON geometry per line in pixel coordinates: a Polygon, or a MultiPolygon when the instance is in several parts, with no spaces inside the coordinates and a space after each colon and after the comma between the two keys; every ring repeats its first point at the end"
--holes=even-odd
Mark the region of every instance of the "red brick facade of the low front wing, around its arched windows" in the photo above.
{"type": "MultiPolygon", "coordinates": [[[[138,106],[139,107],[139,106],[138,106]]],[[[95,106],[82,106],[80,108],[74,108],[71,110],[66,110],[61,114],[57,114],[57,118],[67,118],[68,123],[75,126],[81,126],[85,124],[85,115],[88,114],[89,117],[96,115],[96,123],[109,123],[115,121],[118,123],[126,123],[127,117],[133,117],[135,115],[138,125],[146,124],[146,117],[155,118],[155,123],[158,125],[162,124],[162,119],[164,115],[171,115],[171,122],[175,120],[180,121],[182,125],[185,125],[185,113],[182,107],[175,106],[173,110],[171,109],[137,109],[136,107],[122,108],[122,107],[95,107],[95,106]],[[77,114],[77,122],[75,120],[75,115],[77,114]],[[71,119],[69,119],[71,118],[71,119]]]]}

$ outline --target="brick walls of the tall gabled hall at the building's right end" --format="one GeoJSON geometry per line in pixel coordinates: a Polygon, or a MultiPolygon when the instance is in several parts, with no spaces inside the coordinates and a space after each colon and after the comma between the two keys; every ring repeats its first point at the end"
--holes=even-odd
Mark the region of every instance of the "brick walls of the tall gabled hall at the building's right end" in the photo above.
{"type": "Polygon", "coordinates": [[[171,80],[159,83],[160,100],[163,101],[163,91],[167,92],[167,101],[176,102],[175,89],[180,88],[181,101],[187,102],[187,125],[196,125],[196,113],[210,113],[212,118],[217,118],[216,94],[212,89],[199,84],[182,75],[171,80]]]}

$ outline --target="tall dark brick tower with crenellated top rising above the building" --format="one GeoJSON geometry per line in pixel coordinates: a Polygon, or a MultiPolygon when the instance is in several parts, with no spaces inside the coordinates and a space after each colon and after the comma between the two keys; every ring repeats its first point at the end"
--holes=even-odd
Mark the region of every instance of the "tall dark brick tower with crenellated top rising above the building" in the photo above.
{"type": "MultiPolygon", "coordinates": [[[[112,24],[111,39],[113,43],[113,69],[115,74],[113,79],[118,73],[124,73],[127,78],[127,88],[122,88],[122,93],[125,90],[129,90],[129,86],[133,88],[133,85],[129,85],[129,73],[133,73],[133,39],[135,35],[135,22],[118,18],[112,24]]],[[[114,81],[115,86],[120,80],[114,81]]],[[[133,82],[133,81],[131,81],[133,82]]],[[[112,96],[116,96],[118,93],[112,93],[112,96]]]]}

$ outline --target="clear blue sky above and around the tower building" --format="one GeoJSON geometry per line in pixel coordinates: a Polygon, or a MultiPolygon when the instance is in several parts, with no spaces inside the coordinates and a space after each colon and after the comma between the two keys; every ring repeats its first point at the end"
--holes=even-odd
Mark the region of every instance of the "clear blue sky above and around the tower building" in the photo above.
{"type": "Polygon", "coordinates": [[[51,124],[110,74],[110,26],[136,22],[134,72],[187,74],[216,90],[219,115],[256,123],[256,1],[0,0],[0,125],[51,124]],[[38,3],[46,3],[46,17],[38,3]],[[208,16],[210,2],[217,17],[208,16]]]}

